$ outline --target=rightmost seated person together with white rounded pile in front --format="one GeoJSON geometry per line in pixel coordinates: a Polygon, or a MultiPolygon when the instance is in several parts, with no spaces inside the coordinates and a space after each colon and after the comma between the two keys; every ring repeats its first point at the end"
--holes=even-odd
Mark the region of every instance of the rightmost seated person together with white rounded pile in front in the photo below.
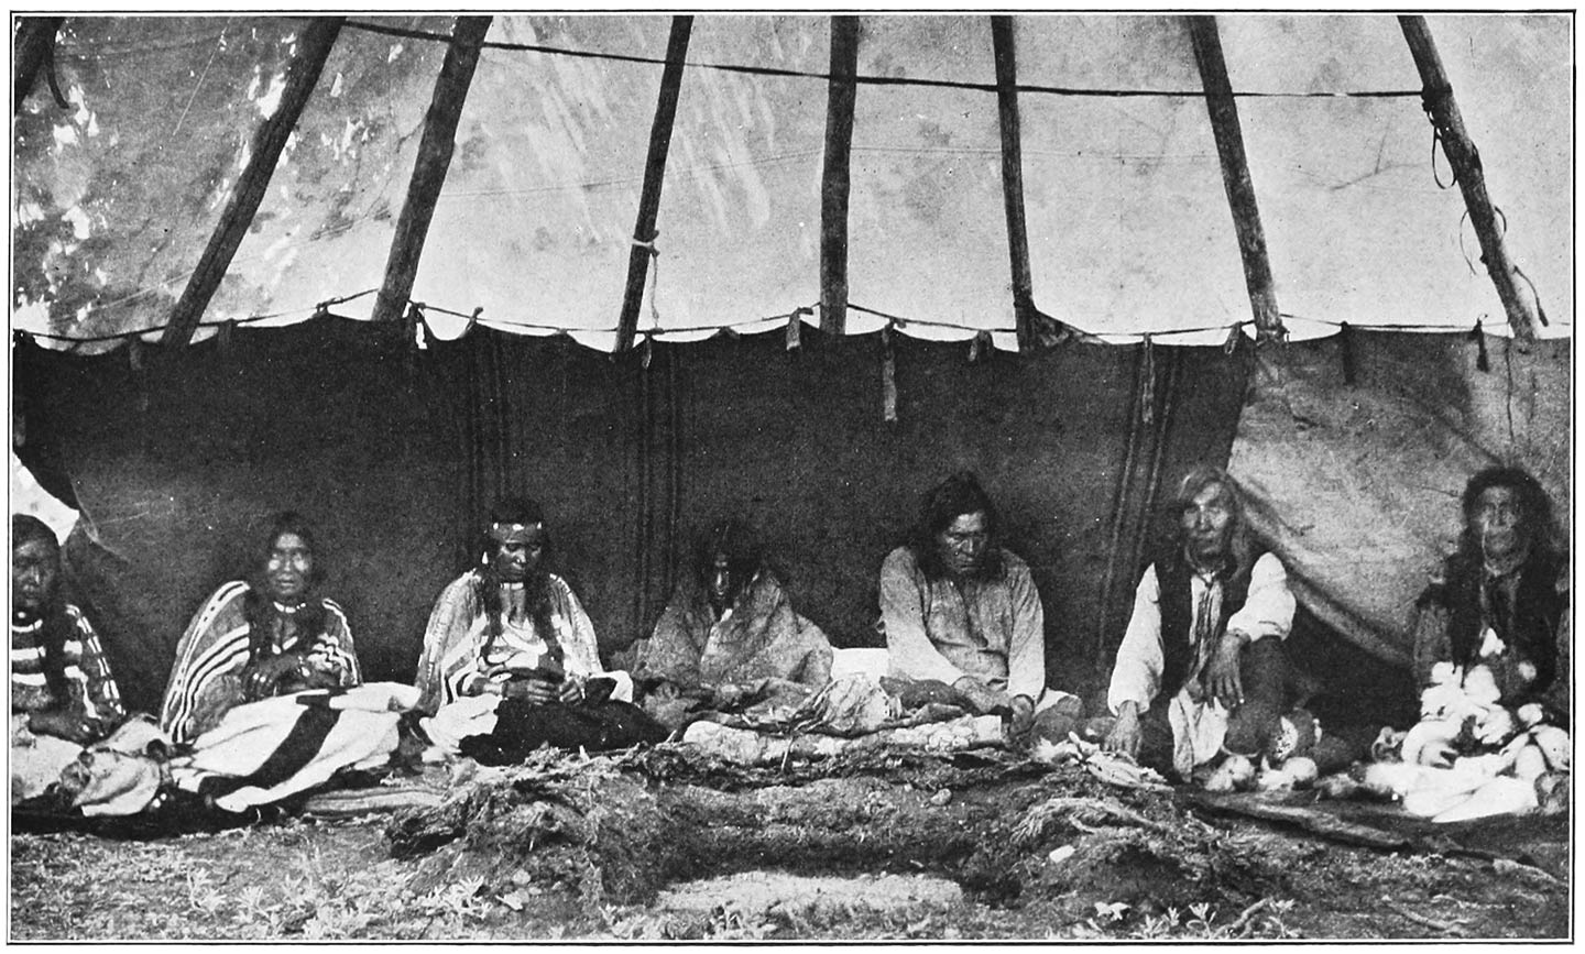
{"type": "Polygon", "coordinates": [[[1569,800],[1569,561],[1552,501],[1522,467],[1474,474],[1458,550],[1415,602],[1420,721],[1384,729],[1374,794],[1465,821],[1569,800]]]}

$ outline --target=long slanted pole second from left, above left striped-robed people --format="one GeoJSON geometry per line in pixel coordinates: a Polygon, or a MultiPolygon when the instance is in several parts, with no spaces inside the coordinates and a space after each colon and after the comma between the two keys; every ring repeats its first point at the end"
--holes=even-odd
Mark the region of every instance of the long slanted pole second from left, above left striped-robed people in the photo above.
{"type": "Polygon", "coordinates": [[[220,279],[225,277],[225,269],[231,266],[236,249],[247,236],[254,212],[265,200],[269,177],[274,176],[276,162],[281,160],[281,151],[285,149],[287,138],[296,128],[296,120],[314,92],[314,84],[319,82],[319,73],[325,68],[325,60],[330,59],[330,48],[336,44],[344,19],[339,16],[314,17],[298,38],[296,54],[292,57],[292,65],[287,67],[281,103],[274,114],[254,130],[247,168],[231,187],[231,198],[225,203],[220,222],[216,225],[214,235],[209,236],[203,255],[198,257],[198,265],[193,268],[192,277],[187,279],[182,296],[171,309],[171,319],[160,336],[160,344],[182,347],[192,341],[193,331],[198,330],[198,322],[209,307],[209,300],[214,298],[220,279]]]}

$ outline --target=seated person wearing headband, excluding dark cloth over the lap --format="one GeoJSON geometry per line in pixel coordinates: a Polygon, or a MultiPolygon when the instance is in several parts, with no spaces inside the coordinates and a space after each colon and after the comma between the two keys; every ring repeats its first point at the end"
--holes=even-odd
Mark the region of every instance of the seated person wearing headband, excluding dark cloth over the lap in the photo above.
{"type": "Polygon", "coordinates": [[[539,504],[504,498],[490,512],[480,563],[453,580],[434,612],[418,659],[418,708],[430,740],[456,751],[490,734],[502,700],[579,707],[632,699],[624,672],[605,672],[594,624],[561,577],[545,569],[550,534],[539,504]]]}

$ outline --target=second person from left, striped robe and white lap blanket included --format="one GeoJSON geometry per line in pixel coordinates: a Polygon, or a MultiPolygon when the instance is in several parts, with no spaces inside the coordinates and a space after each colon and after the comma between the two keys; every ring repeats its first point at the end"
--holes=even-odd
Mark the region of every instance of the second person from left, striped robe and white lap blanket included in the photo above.
{"type": "Polygon", "coordinates": [[[276,515],[255,580],[220,586],[187,624],[160,707],[179,791],[225,811],[279,802],[398,745],[411,686],[363,686],[347,615],[319,591],[315,534],[276,515]]]}

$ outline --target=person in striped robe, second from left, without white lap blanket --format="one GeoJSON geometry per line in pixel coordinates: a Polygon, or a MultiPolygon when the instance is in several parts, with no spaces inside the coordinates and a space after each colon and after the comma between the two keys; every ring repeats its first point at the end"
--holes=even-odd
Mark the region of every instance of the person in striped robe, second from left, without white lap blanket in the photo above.
{"type": "Polygon", "coordinates": [[[187,743],[244,702],[363,681],[347,616],[317,593],[314,531],[274,518],[255,582],[220,586],[176,643],[160,727],[187,743]]]}

